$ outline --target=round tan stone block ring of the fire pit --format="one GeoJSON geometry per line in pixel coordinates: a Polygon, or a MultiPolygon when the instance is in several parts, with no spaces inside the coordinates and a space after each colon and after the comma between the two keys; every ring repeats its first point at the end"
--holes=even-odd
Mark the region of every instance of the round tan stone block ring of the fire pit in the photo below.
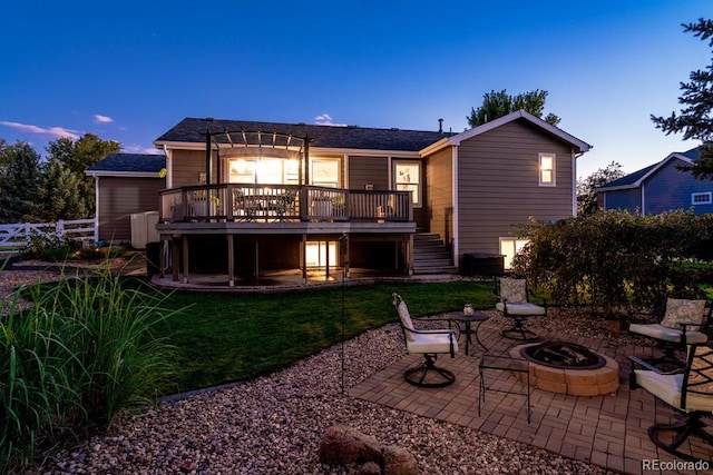
{"type": "MultiPolygon", "coordinates": [[[[550,393],[570,396],[604,396],[615,394],[619,387],[619,365],[613,358],[597,354],[604,358],[604,366],[599,368],[551,367],[526,359],[521,352],[541,343],[530,343],[510,348],[510,357],[527,360],[530,373],[530,386],[550,393]]],[[[527,383],[522,373],[514,373],[521,383],[527,383]]]]}

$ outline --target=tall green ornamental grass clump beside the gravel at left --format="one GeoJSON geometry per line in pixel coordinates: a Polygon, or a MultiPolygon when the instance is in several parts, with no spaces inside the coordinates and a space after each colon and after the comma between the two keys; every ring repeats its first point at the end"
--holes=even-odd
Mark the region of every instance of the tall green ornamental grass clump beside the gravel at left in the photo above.
{"type": "Polygon", "coordinates": [[[114,275],[107,260],[26,289],[30,308],[12,305],[0,317],[0,472],[25,465],[57,431],[107,426],[155,400],[173,372],[154,328],[176,310],[145,286],[114,275]]]}

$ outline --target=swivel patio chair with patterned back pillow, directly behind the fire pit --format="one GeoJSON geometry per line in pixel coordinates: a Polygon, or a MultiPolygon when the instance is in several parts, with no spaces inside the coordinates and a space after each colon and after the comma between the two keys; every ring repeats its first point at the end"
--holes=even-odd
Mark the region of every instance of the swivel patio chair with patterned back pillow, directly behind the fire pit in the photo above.
{"type": "Polygon", "coordinates": [[[527,280],[510,277],[496,279],[496,295],[498,303],[495,308],[512,319],[512,326],[500,330],[500,335],[510,339],[536,339],[537,334],[525,326],[525,320],[547,316],[547,300],[543,301],[543,306],[531,304],[528,298],[533,293],[527,287],[527,280]]]}

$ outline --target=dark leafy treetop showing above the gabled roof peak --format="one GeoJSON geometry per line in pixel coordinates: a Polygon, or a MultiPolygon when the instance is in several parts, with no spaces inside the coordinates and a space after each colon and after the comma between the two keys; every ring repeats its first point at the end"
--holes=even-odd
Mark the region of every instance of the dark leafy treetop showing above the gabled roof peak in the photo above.
{"type": "MultiPolygon", "coordinates": [[[[520,109],[525,109],[531,115],[543,118],[547,93],[547,91],[536,89],[530,92],[510,96],[505,89],[499,92],[491,90],[482,96],[482,106],[478,109],[471,108],[470,116],[466,117],[466,119],[470,127],[478,127],[520,109]]],[[[559,117],[554,113],[548,113],[543,119],[553,126],[559,123],[560,120],[559,117]]]]}

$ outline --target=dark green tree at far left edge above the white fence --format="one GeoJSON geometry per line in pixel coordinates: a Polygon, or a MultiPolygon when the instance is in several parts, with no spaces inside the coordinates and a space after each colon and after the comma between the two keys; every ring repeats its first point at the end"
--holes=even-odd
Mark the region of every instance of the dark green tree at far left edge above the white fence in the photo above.
{"type": "Polygon", "coordinates": [[[36,220],[40,177],[40,156],[29,144],[0,144],[0,222],[36,220]]]}

